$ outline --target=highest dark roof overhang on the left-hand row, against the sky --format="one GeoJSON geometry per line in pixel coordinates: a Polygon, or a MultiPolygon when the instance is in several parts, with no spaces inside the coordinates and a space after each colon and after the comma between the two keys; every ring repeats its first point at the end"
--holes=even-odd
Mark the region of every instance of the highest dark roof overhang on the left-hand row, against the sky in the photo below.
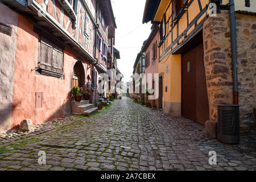
{"type": "Polygon", "coordinates": [[[108,26],[112,26],[114,28],[117,28],[117,24],[115,24],[115,17],[111,5],[110,0],[100,0],[99,1],[102,14],[104,16],[104,20],[108,26]]]}

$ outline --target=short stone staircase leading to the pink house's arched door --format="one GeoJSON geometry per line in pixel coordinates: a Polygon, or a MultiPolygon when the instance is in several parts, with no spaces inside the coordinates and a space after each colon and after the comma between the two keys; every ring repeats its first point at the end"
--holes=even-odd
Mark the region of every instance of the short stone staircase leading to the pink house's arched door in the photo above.
{"type": "Polygon", "coordinates": [[[72,113],[76,115],[91,115],[97,113],[98,108],[93,104],[89,104],[89,100],[81,100],[80,102],[72,101],[72,113]]]}

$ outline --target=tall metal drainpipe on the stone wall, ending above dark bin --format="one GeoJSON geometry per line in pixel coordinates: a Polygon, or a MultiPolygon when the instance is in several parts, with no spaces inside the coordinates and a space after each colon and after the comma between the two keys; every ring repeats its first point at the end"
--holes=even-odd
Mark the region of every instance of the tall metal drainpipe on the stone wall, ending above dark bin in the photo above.
{"type": "Polygon", "coordinates": [[[233,104],[238,105],[238,79],[237,79],[237,36],[236,19],[234,12],[234,0],[229,0],[230,15],[230,33],[231,33],[231,51],[232,51],[232,69],[233,69],[233,104]]]}

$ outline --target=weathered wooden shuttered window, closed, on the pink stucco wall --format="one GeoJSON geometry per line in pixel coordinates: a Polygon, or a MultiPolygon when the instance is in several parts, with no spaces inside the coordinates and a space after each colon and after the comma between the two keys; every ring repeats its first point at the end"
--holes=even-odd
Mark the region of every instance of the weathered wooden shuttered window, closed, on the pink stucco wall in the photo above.
{"type": "Polygon", "coordinates": [[[61,77],[63,73],[63,49],[41,36],[38,65],[40,73],[43,75],[61,77]]]}

